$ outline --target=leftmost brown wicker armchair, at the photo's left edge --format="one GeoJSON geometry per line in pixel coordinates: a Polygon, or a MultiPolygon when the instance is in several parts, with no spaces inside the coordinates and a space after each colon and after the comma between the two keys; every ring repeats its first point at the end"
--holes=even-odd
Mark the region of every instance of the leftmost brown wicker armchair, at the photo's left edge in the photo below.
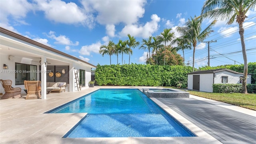
{"type": "Polygon", "coordinates": [[[0,80],[0,82],[5,91],[2,98],[19,98],[19,97],[21,97],[21,88],[13,88],[12,80],[0,80]]]}

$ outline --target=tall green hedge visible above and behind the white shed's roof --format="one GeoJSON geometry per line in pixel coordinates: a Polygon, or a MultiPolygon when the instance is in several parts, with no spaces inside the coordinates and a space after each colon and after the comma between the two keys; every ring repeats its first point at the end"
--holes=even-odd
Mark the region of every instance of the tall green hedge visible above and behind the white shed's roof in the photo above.
{"type": "MultiPolygon", "coordinates": [[[[224,65],[224,66],[203,66],[199,67],[199,70],[214,70],[219,68],[227,68],[229,70],[234,70],[236,72],[244,72],[244,64],[236,64],[236,65],[224,65]]],[[[256,62],[249,62],[248,63],[248,74],[252,74],[252,84],[256,84],[256,62]]]]}

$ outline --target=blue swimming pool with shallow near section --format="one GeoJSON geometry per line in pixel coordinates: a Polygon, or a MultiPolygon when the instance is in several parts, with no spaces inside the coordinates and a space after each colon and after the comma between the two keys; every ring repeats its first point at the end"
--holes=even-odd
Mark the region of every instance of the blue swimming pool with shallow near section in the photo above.
{"type": "Polygon", "coordinates": [[[100,89],[46,113],[88,114],[63,138],[195,136],[138,89],[100,89]]]}

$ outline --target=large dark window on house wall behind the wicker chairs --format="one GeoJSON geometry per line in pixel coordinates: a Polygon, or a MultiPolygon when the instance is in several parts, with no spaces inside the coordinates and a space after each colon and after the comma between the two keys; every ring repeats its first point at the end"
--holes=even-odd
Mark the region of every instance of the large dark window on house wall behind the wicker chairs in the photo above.
{"type": "Polygon", "coordinates": [[[24,84],[24,80],[36,80],[36,66],[15,63],[15,85],[24,84]]]}

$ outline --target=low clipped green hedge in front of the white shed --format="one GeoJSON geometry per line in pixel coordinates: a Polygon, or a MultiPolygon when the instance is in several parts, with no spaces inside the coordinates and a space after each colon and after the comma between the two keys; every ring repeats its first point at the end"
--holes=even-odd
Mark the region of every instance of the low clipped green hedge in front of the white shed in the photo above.
{"type": "MultiPolygon", "coordinates": [[[[216,93],[230,93],[230,92],[238,92],[240,93],[242,90],[242,84],[213,84],[212,85],[213,92],[216,93]]],[[[247,84],[246,85],[248,93],[256,93],[256,84],[247,84]]]]}

